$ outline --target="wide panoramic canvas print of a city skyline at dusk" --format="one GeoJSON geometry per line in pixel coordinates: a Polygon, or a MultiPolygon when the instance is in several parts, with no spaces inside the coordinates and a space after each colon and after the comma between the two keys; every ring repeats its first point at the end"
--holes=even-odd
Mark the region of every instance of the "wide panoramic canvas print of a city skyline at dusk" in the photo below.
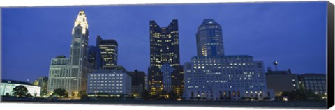
{"type": "Polygon", "coordinates": [[[326,108],[327,5],[1,8],[1,101],[326,108]]]}

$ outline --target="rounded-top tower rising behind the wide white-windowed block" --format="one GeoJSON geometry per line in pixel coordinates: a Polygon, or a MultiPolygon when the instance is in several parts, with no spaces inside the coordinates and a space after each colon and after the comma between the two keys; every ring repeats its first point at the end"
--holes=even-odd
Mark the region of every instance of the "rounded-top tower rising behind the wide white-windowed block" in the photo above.
{"type": "Polygon", "coordinates": [[[220,24],[204,19],[197,32],[198,56],[223,56],[223,37],[220,24]]]}

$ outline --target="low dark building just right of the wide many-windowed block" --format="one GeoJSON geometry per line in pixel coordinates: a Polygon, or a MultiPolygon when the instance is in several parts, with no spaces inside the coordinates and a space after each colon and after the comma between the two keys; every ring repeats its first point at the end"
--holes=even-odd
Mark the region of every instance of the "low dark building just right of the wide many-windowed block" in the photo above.
{"type": "Polygon", "coordinates": [[[267,79],[267,88],[273,89],[276,96],[281,96],[283,91],[299,90],[299,79],[297,74],[291,74],[290,69],[287,71],[272,71],[268,69],[265,73],[267,79]]]}

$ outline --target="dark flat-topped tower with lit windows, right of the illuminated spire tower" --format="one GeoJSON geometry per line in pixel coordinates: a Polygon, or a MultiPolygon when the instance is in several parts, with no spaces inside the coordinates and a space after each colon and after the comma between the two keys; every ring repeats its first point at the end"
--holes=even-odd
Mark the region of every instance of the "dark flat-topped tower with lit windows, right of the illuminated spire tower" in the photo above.
{"type": "Polygon", "coordinates": [[[103,40],[101,36],[96,37],[96,47],[101,49],[101,56],[103,57],[103,66],[117,65],[117,41],[103,40]]]}

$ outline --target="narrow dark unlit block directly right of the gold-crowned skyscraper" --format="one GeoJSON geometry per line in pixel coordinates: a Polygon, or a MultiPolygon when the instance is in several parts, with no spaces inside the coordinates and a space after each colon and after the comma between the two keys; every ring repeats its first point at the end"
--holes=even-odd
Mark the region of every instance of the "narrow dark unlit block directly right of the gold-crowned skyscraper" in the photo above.
{"type": "Polygon", "coordinates": [[[101,49],[95,46],[89,46],[89,63],[91,64],[91,68],[96,70],[101,69],[103,65],[103,58],[101,57],[101,49]]]}

